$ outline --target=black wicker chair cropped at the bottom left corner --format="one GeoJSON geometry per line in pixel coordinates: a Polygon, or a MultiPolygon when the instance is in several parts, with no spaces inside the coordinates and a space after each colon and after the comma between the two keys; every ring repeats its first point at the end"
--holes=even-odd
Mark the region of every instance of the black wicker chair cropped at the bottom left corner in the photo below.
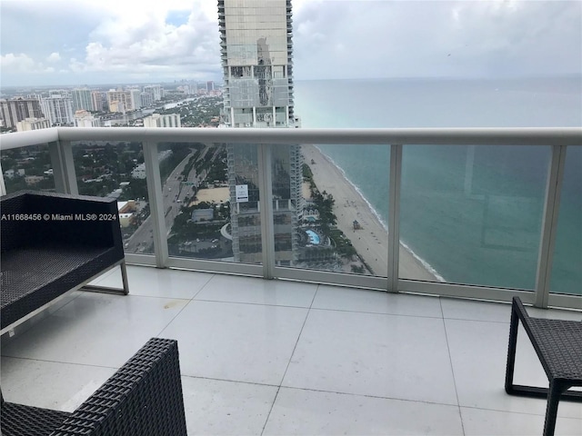
{"type": "Polygon", "coordinates": [[[3,436],[182,436],[186,415],[176,341],[152,338],[74,412],[2,399],[3,436]]]}

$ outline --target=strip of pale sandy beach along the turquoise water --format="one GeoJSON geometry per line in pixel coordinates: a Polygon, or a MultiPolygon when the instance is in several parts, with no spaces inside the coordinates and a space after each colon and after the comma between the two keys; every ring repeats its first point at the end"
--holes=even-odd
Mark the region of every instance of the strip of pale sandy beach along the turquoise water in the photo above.
{"type": "MultiPolygon", "coordinates": [[[[379,222],[366,201],[347,182],[344,174],[313,145],[302,145],[305,162],[311,168],[314,182],[320,192],[331,193],[336,200],[337,228],[351,239],[357,253],[372,268],[375,275],[387,275],[386,229],[379,222]],[[313,159],[314,163],[311,163],[313,159]],[[354,221],[362,228],[354,230],[354,221]]],[[[400,245],[400,277],[435,282],[437,277],[400,245]]]]}

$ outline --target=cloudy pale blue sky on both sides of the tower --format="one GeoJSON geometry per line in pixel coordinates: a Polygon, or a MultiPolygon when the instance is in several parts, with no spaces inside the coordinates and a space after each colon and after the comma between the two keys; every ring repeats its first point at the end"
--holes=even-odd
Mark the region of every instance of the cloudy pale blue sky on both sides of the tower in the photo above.
{"type": "MultiPolygon", "coordinates": [[[[1,0],[0,85],[221,82],[216,4],[1,0]]],[[[294,0],[293,31],[296,80],[582,76],[579,0],[294,0]]]]}

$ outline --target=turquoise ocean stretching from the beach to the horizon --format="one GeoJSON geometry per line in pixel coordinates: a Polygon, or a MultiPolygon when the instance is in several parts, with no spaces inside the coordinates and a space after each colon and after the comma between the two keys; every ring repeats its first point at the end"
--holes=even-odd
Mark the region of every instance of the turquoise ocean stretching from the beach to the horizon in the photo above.
{"type": "MultiPolygon", "coordinates": [[[[580,78],[296,81],[304,127],[582,125],[580,78]]],[[[389,147],[316,144],[388,216],[389,147]]],[[[532,290],[549,146],[408,145],[401,241],[447,282],[532,290]]],[[[582,147],[570,147],[552,292],[582,294],[582,147]]]]}

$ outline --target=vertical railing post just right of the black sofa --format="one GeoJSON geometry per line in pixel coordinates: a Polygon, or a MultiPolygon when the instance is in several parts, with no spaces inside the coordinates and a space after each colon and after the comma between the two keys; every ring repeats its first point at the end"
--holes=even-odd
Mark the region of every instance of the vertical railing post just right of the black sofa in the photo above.
{"type": "MultiPolygon", "coordinates": [[[[162,193],[162,178],[160,165],[157,161],[157,144],[145,142],[144,162],[146,163],[146,184],[149,203],[149,220],[152,220],[154,236],[154,253],[156,267],[166,268],[168,250],[166,233],[166,211],[164,210],[164,195],[162,193]]],[[[176,206],[177,207],[177,206],[176,206]]]]}

